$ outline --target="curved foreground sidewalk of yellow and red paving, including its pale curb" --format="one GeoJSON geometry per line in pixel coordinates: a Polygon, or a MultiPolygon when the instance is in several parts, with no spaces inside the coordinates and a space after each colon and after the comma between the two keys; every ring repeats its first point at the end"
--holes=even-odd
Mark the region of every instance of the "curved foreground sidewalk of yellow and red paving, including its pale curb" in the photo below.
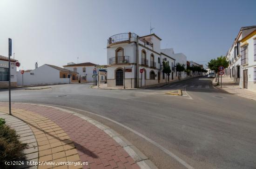
{"type": "MultiPolygon", "coordinates": [[[[0,112],[1,116],[10,118],[7,103],[0,103],[0,112]]],[[[13,121],[11,125],[20,126],[18,123],[22,122],[29,126],[26,129],[30,134],[25,140],[34,146],[25,150],[27,160],[35,158],[36,161],[38,157],[39,163],[54,162],[41,164],[38,169],[156,168],[114,130],[81,114],[53,106],[21,103],[12,104],[12,114],[13,120],[18,120],[15,121],[17,124],[13,121]],[[88,165],[63,165],[60,162],[88,162],[88,165]]],[[[14,129],[22,135],[19,129],[14,129]]]]}

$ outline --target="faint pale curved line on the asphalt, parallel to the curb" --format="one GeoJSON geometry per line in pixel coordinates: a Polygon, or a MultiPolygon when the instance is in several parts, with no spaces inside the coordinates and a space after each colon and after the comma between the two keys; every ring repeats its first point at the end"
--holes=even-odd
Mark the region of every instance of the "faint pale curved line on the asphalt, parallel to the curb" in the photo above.
{"type": "MultiPolygon", "coordinates": [[[[32,103],[34,104],[34,103],[32,103]]],[[[162,151],[164,151],[166,154],[168,154],[169,156],[173,157],[175,160],[177,160],[179,163],[181,163],[184,167],[186,167],[187,169],[194,169],[191,165],[189,165],[188,163],[186,163],[184,160],[182,160],[180,157],[176,156],[174,153],[172,153],[171,151],[165,149],[162,145],[156,143],[155,141],[151,140],[150,138],[148,138],[147,136],[144,136],[142,135],[141,133],[139,133],[138,131],[135,131],[125,125],[123,125],[122,123],[119,123],[119,122],[116,122],[115,120],[112,120],[108,117],[104,117],[104,116],[101,116],[101,115],[98,115],[96,113],[93,113],[93,112],[90,112],[90,111],[86,111],[86,110],[81,110],[81,109],[76,109],[76,108],[72,108],[72,107],[67,107],[67,106],[61,106],[61,105],[54,105],[54,104],[45,104],[45,105],[52,105],[52,106],[56,106],[56,107],[65,107],[65,108],[68,108],[68,109],[73,109],[73,110],[79,110],[79,111],[84,111],[86,113],[89,113],[89,114],[93,114],[95,116],[98,116],[98,117],[101,117],[101,118],[105,118],[113,123],[116,123],[118,125],[121,125],[123,128],[127,129],[127,130],[130,130],[131,132],[135,133],[136,135],[138,136],[141,136],[142,138],[144,138],[145,140],[147,140],[149,143],[152,143],[154,144],[156,147],[158,147],[159,149],[161,149],[162,151]]]]}

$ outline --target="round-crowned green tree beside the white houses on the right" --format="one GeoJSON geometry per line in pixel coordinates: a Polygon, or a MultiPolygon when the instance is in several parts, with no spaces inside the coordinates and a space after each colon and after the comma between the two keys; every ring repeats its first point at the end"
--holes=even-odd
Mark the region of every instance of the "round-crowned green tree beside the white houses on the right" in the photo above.
{"type": "MultiPolygon", "coordinates": [[[[219,66],[223,66],[224,68],[227,68],[227,67],[229,67],[229,62],[226,60],[225,56],[220,56],[217,59],[211,59],[208,62],[207,66],[210,70],[213,70],[213,71],[215,71],[215,73],[217,73],[219,66]]],[[[219,75],[218,74],[217,74],[217,77],[218,77],[217,85],[219,85],[219,75]]]]}

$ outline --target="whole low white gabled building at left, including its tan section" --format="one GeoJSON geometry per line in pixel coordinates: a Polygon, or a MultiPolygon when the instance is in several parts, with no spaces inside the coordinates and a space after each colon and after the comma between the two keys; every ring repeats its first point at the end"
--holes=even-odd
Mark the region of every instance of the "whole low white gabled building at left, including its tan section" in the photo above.
{"type": "Polygon", "coordinates": [[[24,74],[17,72],[17,84],[27,86],[78,83],[77,77],[78,73],[74,71],[47,64],[37,68],[36,64],[34,70],[25,71],[24,74]]]}

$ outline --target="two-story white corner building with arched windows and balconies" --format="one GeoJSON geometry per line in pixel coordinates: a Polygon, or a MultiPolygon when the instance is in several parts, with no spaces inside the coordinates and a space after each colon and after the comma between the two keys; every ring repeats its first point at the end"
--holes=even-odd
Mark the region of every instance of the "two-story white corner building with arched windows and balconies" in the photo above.
{"type": "Polygon", "coordinates": [[[107,45],[108,86],[137,88],[174,80],[173,73],[168,77],[162,73],[162,61],[168,62],[174,72],[175,59],[161,52],[161,40],[154,33],[111,36],[107,45]]]}

